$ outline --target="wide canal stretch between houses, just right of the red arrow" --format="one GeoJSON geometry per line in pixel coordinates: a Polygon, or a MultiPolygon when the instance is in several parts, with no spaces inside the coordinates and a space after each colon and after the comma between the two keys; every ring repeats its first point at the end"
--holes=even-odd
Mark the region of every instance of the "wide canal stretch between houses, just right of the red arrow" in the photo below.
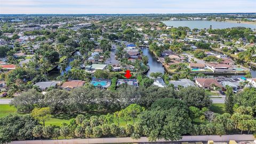
{"type": "Polygon", "coordinates": [[[149,71],[147,73],[147,76],[149,76],[151,73],[165,73],[165,69],[162,66],[161,62],[158,62],[155,55],[149,51],[148,48],[141,48],[143,55],[147,55],[148,57],[148,66],[149,71]]]}

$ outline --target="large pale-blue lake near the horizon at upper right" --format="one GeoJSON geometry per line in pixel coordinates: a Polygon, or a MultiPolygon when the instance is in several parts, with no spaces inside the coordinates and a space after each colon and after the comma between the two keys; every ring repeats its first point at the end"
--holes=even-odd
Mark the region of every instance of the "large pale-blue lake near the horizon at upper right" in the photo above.
{"type": "Polygon", "coordinates": [[[256,25],[247,23],[235,23],[235,22],[220,22],[220,21],[163,21],[167,26],[173,27],[189,27],[190,29],[198,28],[210,28],[212,29],[223,29],[231,27],[246,27],[256,29],[256,25]]]}

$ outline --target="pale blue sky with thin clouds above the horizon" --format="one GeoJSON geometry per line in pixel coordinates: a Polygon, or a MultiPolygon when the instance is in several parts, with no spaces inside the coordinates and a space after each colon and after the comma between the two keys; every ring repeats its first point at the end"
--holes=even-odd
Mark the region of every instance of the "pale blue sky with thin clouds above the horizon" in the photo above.
{"type": "Polygon", "coordinates": [[[1,14],[256,12],[256,0],[0,0],[1,14]]]}

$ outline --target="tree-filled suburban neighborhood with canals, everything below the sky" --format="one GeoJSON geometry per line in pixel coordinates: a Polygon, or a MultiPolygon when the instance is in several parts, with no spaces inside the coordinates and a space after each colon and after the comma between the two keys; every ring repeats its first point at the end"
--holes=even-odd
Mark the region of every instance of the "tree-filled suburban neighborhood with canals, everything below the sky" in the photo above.
{"type": "Polygon", "coordinates": [[[254,143],[255,13],[2,13],[0,143],[254,143]]]}

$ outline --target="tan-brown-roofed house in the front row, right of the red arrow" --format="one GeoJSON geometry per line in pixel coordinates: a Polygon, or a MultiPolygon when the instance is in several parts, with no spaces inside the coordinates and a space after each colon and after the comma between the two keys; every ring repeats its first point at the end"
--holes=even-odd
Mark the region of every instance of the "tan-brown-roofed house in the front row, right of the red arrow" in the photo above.
{"type": "Polygon", "coordinates": [[[216,87],[223,88],[223,86],[213,78],[196,78],[196,84],[203,89],[216,89],[216,87]]]}

